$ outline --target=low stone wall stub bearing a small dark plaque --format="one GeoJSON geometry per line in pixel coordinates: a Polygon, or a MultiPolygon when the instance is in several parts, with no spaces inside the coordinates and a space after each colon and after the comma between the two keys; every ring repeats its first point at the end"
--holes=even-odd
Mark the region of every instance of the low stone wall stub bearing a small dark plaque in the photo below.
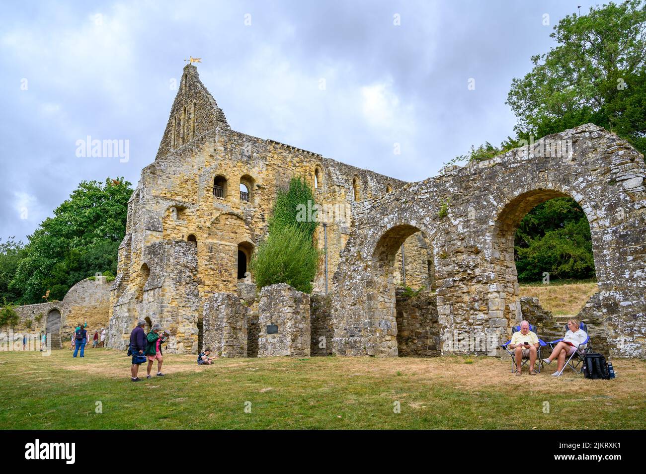
{"type": "Polygon", "coordinates": [[[309,294],[287,283],[276,283],[260,291],[258,305],[258,357],[310,355],[309,294]],[[278,333],[267,334],[267,325],[278,333]]]}

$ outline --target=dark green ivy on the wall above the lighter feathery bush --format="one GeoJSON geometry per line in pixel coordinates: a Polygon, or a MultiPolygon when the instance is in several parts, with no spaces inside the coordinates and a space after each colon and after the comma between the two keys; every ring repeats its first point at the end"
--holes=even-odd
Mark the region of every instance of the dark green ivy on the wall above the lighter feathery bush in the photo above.
{"type": "Polygon", "coordinates": [[[269,220],[269,234],[288,225],[295,225],[309,236],[313,236],[318,223],[315,220],[308,222],[307,212],[303,212],[308,209],[308,201],[309,209],[313,209],[315,206],[314,193],[307,180],[300,178],[300,176],[291,178],[289,187],[279,189],[276,195],[273,213],[269,220]],[[305,219],[302,218],[303,216],[305,219]]]}

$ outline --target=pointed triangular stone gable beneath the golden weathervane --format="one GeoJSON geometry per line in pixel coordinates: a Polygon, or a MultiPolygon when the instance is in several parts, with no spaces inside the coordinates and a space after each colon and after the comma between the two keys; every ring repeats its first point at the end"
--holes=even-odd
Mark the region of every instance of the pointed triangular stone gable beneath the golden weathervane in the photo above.
{"type": "Polygon", "coordinates": [[[231,128],[224,112],[200,81],[198,69],[188,64],[184,67],[155,160],[217,127],[231,128]]]}

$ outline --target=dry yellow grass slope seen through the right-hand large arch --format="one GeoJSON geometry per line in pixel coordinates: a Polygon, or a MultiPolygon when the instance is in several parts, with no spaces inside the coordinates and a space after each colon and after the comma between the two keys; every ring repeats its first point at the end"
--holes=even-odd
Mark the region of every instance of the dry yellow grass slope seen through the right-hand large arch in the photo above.
{"type": "Polygon", "coordinates": [[[597,291],[595,282],[521,285],[521,296],[538,298],[541,306],[552,311],[555,316],[574,316],[597,291]]]}

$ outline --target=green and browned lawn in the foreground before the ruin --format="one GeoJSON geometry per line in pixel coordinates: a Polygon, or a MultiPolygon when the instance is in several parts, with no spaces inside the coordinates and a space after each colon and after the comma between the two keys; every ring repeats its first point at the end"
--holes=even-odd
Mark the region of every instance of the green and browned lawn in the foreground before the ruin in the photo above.
{"type": "Polygon", "coordinates": [[[585,380],[486,357],[195,358],[167,355],[167,376],[132,383],[121,352],[2,352],[0,428],[646,428],[643,360],[585,380]]]}

